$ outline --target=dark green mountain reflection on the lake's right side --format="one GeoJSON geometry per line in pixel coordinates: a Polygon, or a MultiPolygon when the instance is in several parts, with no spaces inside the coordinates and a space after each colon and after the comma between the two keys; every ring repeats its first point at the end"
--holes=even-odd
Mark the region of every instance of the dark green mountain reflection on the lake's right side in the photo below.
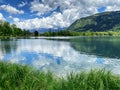
{"type": "Polygon", "coordinates": [[[71,40],[71,46],[81,53],[108,58],[120,58],[119,37],[82,37],[71,40]]]}

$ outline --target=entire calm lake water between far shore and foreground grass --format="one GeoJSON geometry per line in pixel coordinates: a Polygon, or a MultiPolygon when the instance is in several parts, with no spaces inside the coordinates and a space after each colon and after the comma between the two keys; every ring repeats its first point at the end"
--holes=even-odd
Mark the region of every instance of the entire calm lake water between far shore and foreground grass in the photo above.
{"type": "Polygon", "coordinates": [[[120,74],[120,37],[0,39],[0,60],[57,75],[91,68],[120,74]]]}

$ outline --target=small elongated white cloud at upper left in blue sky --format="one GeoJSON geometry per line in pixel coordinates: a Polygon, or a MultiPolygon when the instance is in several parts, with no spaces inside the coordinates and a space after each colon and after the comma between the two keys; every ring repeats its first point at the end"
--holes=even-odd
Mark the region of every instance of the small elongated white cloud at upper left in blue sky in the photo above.
{"type": "Polygon", "coordinates": [[[0,9],[5,10],[6,12],[8,12],[10,14],[24,14],[23,10],[18,10],[15,7],[12,7],[10,5],[1,5],[0,9]]]}

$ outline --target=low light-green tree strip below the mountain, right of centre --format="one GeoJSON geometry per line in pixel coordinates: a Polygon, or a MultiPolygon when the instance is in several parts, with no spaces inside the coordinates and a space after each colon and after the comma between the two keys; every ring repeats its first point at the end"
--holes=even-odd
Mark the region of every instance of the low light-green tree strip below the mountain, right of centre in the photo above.
{"type": "Polygon", "coordinates": [[[120,32],[108,31],[108,32],[76,32],[70,30],[62,30],[58,32],[45,32],[40,36],[120,36],[120,32]]]}

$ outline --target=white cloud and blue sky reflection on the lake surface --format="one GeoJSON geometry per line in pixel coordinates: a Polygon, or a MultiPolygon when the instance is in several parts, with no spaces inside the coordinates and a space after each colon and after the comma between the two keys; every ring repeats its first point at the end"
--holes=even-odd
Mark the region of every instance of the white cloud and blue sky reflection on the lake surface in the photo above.
{"type": "MultiPolygon", "coordinates": [[[[15,41],[16,48],[14,47],[14,40],[10,42],[10,51],[4,52],[5,50],[2,48],[5,47],[3,46],[0,48],[1,60],[23,65],[28,64],[37,69],[44,71],[50,70],[59,75],[64,75],[71,71],[79,72],[101,67],[106,67],[117,73],[120,72],[119,59],[81,54],[82,50],[75,47],[85,48],[85,46],[82,46],[84,45],[83,42],[79,43],[79,39],[70,40],[70,42],[46,39],[17,39],[15,41]]],[[[2,41],[2,43],[8,44],[6,41],[2,41]]],[[[88,43],[86,42],[86,44],[88,43]]]]}

